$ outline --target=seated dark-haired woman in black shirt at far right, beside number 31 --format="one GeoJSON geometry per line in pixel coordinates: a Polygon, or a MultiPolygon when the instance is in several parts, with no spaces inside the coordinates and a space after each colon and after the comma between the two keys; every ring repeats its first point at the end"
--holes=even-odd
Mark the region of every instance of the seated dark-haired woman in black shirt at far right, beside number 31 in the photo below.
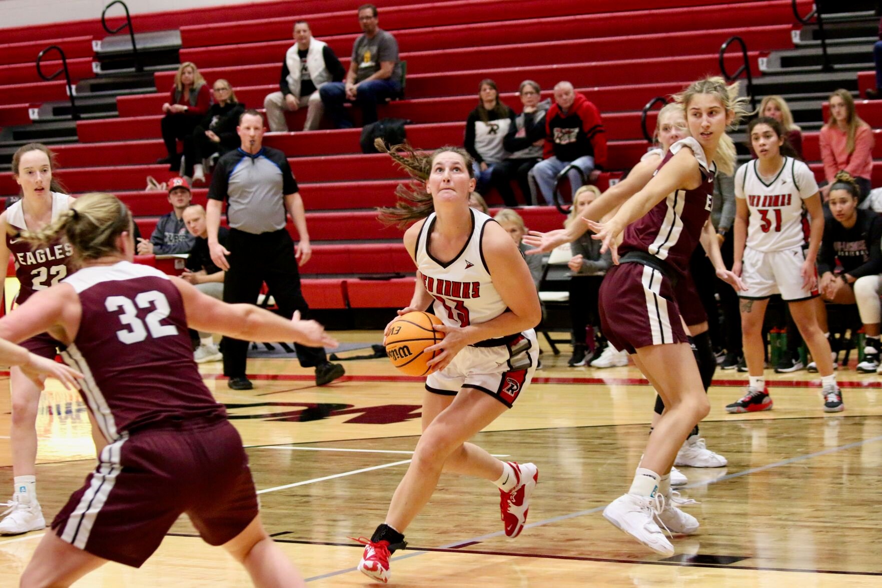
{"type": "Polygon", "coordinates": [[[818,254],[818,290],[833,304],[857,304],[867,335],[864,359],[857,371],[874,373],[879,366],[882,216],[857,207],[860,189],[847,173],[840,172],[834,179],[818,254]]]}

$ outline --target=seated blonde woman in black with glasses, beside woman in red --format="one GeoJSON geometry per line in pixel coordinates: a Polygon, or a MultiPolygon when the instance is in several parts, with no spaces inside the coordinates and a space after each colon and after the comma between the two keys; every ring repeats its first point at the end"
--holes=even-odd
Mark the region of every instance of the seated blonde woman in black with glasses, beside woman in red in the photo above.
{"type": "Polygon", "coordinates": [[[193,178],[193,183],[206,181],[206,170],[202,160],[214,154],[224,155],[239,147],[239,135],[235,127],[245,105],[235,97],[233,87],[226,79],[214,82],[214,103],[208,114],[193,129],[193,133],[183,139],[183,176],[193,178]]]}

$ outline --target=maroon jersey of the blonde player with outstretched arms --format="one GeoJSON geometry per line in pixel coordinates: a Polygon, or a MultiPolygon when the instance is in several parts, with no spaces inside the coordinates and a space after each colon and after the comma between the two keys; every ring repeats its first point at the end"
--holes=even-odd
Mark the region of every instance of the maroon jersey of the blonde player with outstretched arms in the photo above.
{"type": "MultiPolygon", "coordinates": [[[[643,251],[667,261],[680,274],[689,270],[689,259],[699,245],[701,230],[714,204],[716,165],[708,166],[705,152],[692,137],[681,139],[668,150],[659,170],[683,147],[699,160],[701,185],[695,190],[676,190],[646,215],[628,225],[619,253],[643,251]]],[[[656,170],[656,173],[658,170],[656,170]]]]}

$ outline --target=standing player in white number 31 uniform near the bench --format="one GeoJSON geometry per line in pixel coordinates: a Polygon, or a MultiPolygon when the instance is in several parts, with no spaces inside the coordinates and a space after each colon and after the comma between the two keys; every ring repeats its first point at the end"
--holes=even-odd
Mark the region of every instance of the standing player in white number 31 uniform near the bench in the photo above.
{"type": "Polygon", "coordinates": [[[747,290],[741,297],[747,394],[726,406],[728,412],[768,411],[772,397],[763,375],[763,319],[774,294],[788,303],[796,327],[821,374],[824,410],[842,411],[830,343],[818,327],[812,298],[818,296],[815,260],[824,234],[824,212],[814,174],[789,153],[787,133],[774,118],[759,117],[748,126],[757,159],[738,168],[735,176],[735,264],[747,290]],[[811,216],[809,247],[805,240],[804,209],[811,216]]]}

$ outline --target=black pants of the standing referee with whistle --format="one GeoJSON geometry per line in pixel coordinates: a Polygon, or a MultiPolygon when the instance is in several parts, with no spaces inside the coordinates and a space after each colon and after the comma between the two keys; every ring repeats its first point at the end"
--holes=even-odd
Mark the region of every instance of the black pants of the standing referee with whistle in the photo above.
{"type": "MultiPolygon", "coordinates": [[[[224,277],[223,301],[229,304],[255,304],[263,283],[269,288],[280,314],[288,319],[300,311],[309,318],[310,307],[300,290],[300,274],[294,256],[294,241],[288,230],[254,235],[230,229],[227,249],[229,270],[224,277]]],[[[248,356],[248,341],[224,337],[223,373],[230,378],[243,377],[248,356]]],[[[295,343],[297,359],[303,367],[323,364],[325,349],[295,343]]]]}

